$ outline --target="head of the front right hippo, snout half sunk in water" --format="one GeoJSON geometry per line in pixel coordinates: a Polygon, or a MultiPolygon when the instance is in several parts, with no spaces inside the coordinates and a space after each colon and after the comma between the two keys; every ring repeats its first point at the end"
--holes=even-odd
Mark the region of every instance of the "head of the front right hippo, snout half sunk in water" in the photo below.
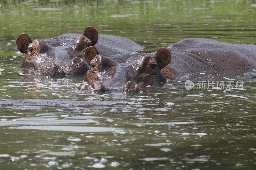
{"type": "MultiPolygon", "coordinates": [[[[114,57],[96,55],[90,62],[91,68],[85,75],[92,90],[119,90],[139,92],[139,86],[167,82],[161,71],[171,62],[171,53],[167,48],[159,48],[156,55],[119,55],[127,58],[124,62],[114,57]]],[[[91,57],[92,58],[92,57],[91,57]]]]}

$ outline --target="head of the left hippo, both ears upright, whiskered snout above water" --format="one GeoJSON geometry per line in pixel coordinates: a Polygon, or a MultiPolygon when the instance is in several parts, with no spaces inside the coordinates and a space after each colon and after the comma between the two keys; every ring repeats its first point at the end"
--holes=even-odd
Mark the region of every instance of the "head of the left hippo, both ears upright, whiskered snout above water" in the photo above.
{"type": "MultiPolygon", "coordinates": [[[[37,70],[42,76],[84,75],[89,69],[84,56],[92,51],[98,37],[92,26],[87,26],[81,35],[64,34],[44,41],[32,41],[22,33],[16,39],[17,49],[26,54],[20,68],[37,70]]],[[[93,50],[98,54],[96,48],[93,50]]]]}

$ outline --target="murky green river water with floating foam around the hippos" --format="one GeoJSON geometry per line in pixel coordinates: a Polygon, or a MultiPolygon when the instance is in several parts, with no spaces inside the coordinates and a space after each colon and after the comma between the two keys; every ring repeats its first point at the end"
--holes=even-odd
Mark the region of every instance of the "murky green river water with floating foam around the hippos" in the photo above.
{"type": "Polygon", "coordinates": [[[19,33],[43,40],[87,25],[144,52],[191,37],[256,44],[255,1],[0,5],[1,169],[255,169],[256,70],[197,73],[140,94],[92,94],[83,77],[20,71],[24,55],[15,48],[19,33]],[[187,79],[244,84],[186,90],[187,79]]]}

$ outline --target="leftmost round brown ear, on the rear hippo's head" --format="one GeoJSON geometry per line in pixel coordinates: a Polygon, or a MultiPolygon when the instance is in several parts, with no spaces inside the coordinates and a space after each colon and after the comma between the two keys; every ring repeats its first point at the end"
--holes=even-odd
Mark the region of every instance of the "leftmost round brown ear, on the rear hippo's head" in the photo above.
{"type": "Polygon", "coordinates": [[[32,40],[29,38],[28,34],[26,33],[21,33],[17,38],[16,38],[16,46],[17,49],[21,53],[26,53],[28,45],[32,42],[32,40]]]}

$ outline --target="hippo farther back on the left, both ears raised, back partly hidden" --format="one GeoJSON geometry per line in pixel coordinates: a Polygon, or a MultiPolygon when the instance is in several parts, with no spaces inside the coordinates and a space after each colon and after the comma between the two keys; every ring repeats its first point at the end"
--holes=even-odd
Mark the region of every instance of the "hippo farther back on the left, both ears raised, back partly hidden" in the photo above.
{"type": "Polygon", "coordinates": [[[87,26],[83,34],[67,33],[44,41],[32,41],[22,33],[16,39],[17,49],[26,54],[20,68],[37,70],[42,76],[84,75],[89,69],[92,54],[116,55],[135,53],[139,44],[120,36],[98,34],[87,26]],[[94,46],[94,48],[92,48],[94,46]],[[87,57],[85,57],[87,56],[87,57]]]}

